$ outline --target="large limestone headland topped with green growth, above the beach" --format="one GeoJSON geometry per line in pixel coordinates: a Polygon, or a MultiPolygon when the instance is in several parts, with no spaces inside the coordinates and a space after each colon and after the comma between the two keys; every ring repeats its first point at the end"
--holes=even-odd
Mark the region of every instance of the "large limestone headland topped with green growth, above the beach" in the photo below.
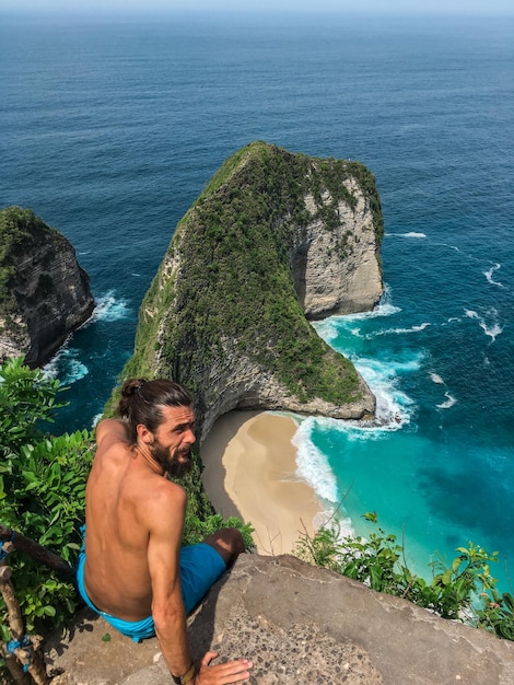
{"type": "Polygon", "coordinates": [[[243,407],[371,417],[374,396],[305,315],[376,304],[382,235],[374,177],[362,164],[264,142],[243,148],[179,222],[124,376],[187,385],[201,438],[243,407]]]}

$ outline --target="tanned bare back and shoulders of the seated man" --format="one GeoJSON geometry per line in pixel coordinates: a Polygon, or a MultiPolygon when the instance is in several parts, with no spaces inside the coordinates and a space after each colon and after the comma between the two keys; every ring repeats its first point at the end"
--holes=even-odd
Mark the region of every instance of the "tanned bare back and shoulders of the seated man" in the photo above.
{"type": "MultiPolygon", "coordinates": [[[[86,490],[85,587],[102,611],[125,620],[139,620],[152,613],[148,503],[159,496],[160,489],[166,490],[165,497],[177,498],[182,503],[183,491],[157,475],[141,453],[129,445],[119,421],[107,419],[98,426],[97,444],[86,490]],[[113,438],[115,431],[119,432],[119,440],[113,438]]],[[[182,531],[182,520],[170,524],[182,531]]]]}

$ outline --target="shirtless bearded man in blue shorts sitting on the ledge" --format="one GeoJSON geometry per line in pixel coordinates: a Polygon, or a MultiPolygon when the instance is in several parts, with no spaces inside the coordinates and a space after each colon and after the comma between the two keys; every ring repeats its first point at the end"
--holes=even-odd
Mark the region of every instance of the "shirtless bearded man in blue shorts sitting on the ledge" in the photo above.
{"type": "Polygon", "coordinates": [[[135,641],[156,635],[175,683],[223,685],[249,678],[246,659],[192,662],[186,615],[244,550],[236,529],[180,548],[186,492],[167,479],[190,467],[195,415],[187,391],[171,381],[132,379],[121,388],[120,419],[96,428],[85,491],[81,595],[135,641]]]}

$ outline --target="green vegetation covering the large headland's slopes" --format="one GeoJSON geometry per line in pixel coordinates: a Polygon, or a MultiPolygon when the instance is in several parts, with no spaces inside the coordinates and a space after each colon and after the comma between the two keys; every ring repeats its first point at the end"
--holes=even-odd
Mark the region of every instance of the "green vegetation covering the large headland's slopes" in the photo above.
{"type": "MultiPolygon", "coordinates": [[[[300,403],[358,400],[359,376],[306,321],[291,267],[308,224],[320,219],[330,231],[340,201],[355,208],[347,181],[357,182],[366,198],[379,245],[379,200],[362,164],[292,154],[264,142],[231,156],[176,229],[141,305],[124,376],[165,374],[198,396],[212,367],[230,363],[226,350],[235,346],[300,403]],[[315,214],[306,208],[307,196],[314,197],[315,214]]],[[[344,245],[335,248],[342,258],[344,245]]]]}

